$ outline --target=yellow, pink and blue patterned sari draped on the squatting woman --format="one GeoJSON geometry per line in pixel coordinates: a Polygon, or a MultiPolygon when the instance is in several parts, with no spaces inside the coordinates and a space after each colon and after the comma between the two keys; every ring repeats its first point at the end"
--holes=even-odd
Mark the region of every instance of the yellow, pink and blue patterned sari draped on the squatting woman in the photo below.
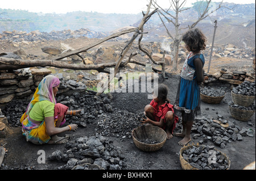
{"type": "MultiPolygon", "coordinates": [[[[38,88],[35,91],[30,103],[27,106],[26,112],[20,118],[20,123],[22,123],[22,132],[23,135],[27,138],[27,141],[31,141],[34,144],[44,144],[47,143],[51,137],[48,136],[46,132],[46,123],[42,121],[40,125],[32,123],[29,120],[29,112],[34,107],[35,103],[42,100],[48,100],[53,104],[56,104],[56,99],[53,94],[53,87],[56,87],[60,84],[59,78],[53,75],[47,75],[39,83],[38,88]]],[[[55,119],[55,123],[56,123],[55,119]]]]}

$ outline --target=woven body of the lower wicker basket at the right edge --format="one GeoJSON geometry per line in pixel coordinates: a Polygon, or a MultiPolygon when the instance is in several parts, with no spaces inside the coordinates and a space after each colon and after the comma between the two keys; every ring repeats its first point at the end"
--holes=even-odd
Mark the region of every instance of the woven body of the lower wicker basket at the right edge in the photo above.
{"type": "Polygon", "coordinates": [[[240,108],[233,108],[229,106],[229,111],[234,119],[239,121],[247,121],[253,116],[255,110],[240,110],[240,108]]]}

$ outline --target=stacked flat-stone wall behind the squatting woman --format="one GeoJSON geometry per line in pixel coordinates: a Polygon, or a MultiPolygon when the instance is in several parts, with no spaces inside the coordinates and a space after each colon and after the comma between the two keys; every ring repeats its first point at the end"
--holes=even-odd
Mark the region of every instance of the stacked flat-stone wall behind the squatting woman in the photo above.
{"type": "MultiPolygon", "coordinates": [[[[0,107],[10,102],[14,98],[24,98],[32,96],[40,81],[51,74],[48,69],[18,69],[18,70],[0,70],[0,107]]],[[[62,74],[57,74],[60,78],[60,87],[58,94],[72,94],[75,91],[86,90],[86,85],[82,82],[76,82],[72,79],[64,79],[62,74]]]]}

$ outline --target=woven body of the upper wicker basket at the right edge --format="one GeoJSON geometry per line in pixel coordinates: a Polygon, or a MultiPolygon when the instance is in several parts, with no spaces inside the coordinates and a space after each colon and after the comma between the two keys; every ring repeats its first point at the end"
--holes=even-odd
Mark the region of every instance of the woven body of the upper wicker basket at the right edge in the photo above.
{"type": "Polygon", "coordinates": [[[255,100],[254,95],[235,94],[233,91],[231,91],[231,96],[234,104],[238,104],[240,106],[245,106],[245,107],[250,106],[255,100]]]}

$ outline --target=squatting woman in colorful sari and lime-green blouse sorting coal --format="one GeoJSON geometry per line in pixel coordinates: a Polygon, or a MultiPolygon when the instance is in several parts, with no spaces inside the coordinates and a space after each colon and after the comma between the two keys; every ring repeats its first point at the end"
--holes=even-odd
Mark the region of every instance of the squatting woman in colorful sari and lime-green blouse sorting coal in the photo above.
{"type": "Polygon", "coordinates": [[[58,137],[57,134],[77,130],[77,124],[60,127],[65,123],[65,115],[79,114],[81,110],[68,111],[67,106],[56,104],[59,85],[59,78],[53,75],[47,75],[39,83],[26,112],[20,118],[27,141],[34,144],[64,144],[68,138],[58,137]]]}

